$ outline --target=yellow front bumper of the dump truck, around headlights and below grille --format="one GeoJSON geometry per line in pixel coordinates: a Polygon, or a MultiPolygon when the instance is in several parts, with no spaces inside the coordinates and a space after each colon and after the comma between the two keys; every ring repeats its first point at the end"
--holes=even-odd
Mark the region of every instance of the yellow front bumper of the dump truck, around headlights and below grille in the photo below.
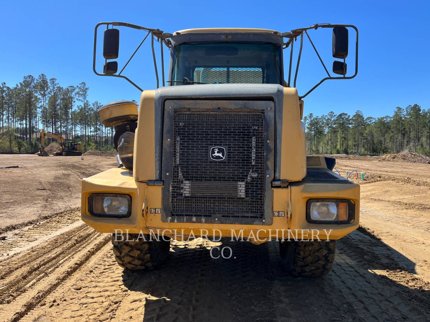
{"type": "Polygon", "coordinates": [[[308,169],[307,176],[292,182],[287,188],[273,188],[273,223],[271,225],[234,225],[193,222],[163,222],[161,218],[161,187],[136,181],[131,171],[113,168],[82,180],[81,218],[101,233],[164,233],[173,238],[209,235],[222,237],[257,237],[307,240],[336,240],[359,226],[360,186],[327,169],[308,169]],[[129,194],[131,216],[106,218],[92,216],[88,211],[88,196],[92,193],[129,194]],[[306,220],[306,202],[315,198],[348,199],[355,204],[355,219],[349,224],[316,224],[306,220]],[[279,216],[282,214],[284,216],[279,216]]]}

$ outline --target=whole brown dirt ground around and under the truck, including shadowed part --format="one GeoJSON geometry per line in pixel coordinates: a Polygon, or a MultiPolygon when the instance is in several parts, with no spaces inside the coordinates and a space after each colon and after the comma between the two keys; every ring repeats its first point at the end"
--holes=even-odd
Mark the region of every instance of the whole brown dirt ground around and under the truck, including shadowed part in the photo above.
{"type": "Polygon", "coordinates": [[[77,207],[80,178],[114,158],[43,159],[0,155],[0,166],[20,166],[0,169],[0,321],[430,320],[430,164],[338,157],[343,176],[365,173],[352,179],[361,184],[362,227],[338,241],[327,276],[294,278],[277,243],[229,240],[174,241],[159,269],[124,271],[110,237],[80,222],[77,207]],[[69,204],[58,193],[36,213],[58,190],[36,190],[40,182],[48,187],[63,173],[69,204]],[[212,246],[230,246],[234,258],[212,259],[212,246]]]}

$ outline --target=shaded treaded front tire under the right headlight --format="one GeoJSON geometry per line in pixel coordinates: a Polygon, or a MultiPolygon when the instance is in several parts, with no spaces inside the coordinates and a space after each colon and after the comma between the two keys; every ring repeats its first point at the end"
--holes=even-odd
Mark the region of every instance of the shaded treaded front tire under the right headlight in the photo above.
{"type": "Polygon", "coordinates": [[[336,240],[279,242],[284,268],[295,276],[324,276],[333,266],[336,240]]]}

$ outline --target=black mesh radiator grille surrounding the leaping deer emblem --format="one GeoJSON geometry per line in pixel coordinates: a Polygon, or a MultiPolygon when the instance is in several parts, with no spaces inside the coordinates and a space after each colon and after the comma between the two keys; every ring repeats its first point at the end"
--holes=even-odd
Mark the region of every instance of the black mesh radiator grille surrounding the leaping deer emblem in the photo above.
{"type": "Polygon", "coordinates": [[[263,111],[175,112],[173,134],[172,216],[264,217],[263,111]]]}

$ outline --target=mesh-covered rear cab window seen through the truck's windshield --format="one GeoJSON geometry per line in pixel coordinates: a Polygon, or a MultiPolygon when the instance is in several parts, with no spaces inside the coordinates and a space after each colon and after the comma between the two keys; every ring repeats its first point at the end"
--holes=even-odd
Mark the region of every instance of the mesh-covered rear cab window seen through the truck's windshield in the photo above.
{"type": "Polygon", "coordinates": [[[194,82],[220,83],[263,83],[263,71],[258,67],[197,67],[194,82]]]}

